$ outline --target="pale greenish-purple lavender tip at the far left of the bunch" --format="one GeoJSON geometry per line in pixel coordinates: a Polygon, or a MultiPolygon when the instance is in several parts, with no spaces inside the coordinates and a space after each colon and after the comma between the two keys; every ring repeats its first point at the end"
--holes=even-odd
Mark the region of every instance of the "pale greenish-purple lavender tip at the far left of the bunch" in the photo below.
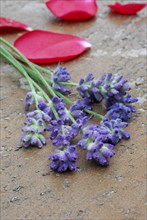
{"type": "Polygon", "coordinates": [[[36,145],[38,148],[42,148],[46,144],[46,139],[42,133],[45,131],[49,121],[50,117],[40,110],[35,110],[26,115],[24,127],[22,128],[24,133],[21,137],[25,148],[30,145],[36,145]]]}

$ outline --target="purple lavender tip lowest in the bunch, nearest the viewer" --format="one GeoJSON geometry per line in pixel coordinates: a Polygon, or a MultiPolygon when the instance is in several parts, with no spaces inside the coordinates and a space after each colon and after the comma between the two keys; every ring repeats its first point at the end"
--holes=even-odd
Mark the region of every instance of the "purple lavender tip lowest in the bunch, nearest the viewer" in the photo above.
{"type": "Polygon", "coordinates": [[[54,171],[65,172],[66,170],[76,170],[76,161],[78,159],[78,152],[75,146],[67,146],[55,149],[54,153],[49,156],[52,161],[50,168],[54,171]]]}

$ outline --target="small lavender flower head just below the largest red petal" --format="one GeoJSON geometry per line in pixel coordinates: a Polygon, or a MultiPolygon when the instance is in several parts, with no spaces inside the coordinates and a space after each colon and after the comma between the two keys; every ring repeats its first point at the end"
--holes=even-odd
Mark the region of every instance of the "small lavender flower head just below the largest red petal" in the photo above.
{"type": "Polygon", "coordinates": [[[65,67],[59,66],[52,76],[53,88],[63,94],[69,94],[70,90],[67,86],[64,86],[62,82],[68,82],[70,80],[70,74],[65,67]]]}

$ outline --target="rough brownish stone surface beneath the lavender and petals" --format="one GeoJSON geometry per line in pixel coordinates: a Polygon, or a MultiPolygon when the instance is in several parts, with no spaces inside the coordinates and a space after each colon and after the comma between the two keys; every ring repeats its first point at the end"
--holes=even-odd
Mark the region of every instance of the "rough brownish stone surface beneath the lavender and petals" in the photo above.
{"type": "MultiPolygon", "coordinates": [[[[92,49],[64,64],[73,81],[89,72],[96,77],[123,73],[132,86],[131,93],[139,99],[137,113],[127,128],[131,139],[116,146],[109,167],[85,161],[85,152],[79,150],[77,172],[53,173],[47,160],[53,150],[49,140],[41,150],[16,150],[26,90],[20,75],[1,62],[1,219],[145,220],[146,10],[122,16],[106,7],[114,1],[99,0],[96,18],[66,22],[55,18],[44,2],[1,0],[1,16],[33,28],[85,38],[92,49]]],[[[4,37],[13,42],[21,34],[4,37]]]]}

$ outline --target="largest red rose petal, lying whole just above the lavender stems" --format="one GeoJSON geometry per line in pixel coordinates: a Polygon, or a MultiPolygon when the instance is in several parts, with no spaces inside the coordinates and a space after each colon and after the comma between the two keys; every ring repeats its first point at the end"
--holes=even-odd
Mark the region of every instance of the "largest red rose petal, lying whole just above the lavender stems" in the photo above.
{"type": "Polygon", "coordinates": [[[80,37],[43,30],[23,34],[14,42],[14,46],[30,61],[38,64],[71,60],[91,47],[80,37]]]}

